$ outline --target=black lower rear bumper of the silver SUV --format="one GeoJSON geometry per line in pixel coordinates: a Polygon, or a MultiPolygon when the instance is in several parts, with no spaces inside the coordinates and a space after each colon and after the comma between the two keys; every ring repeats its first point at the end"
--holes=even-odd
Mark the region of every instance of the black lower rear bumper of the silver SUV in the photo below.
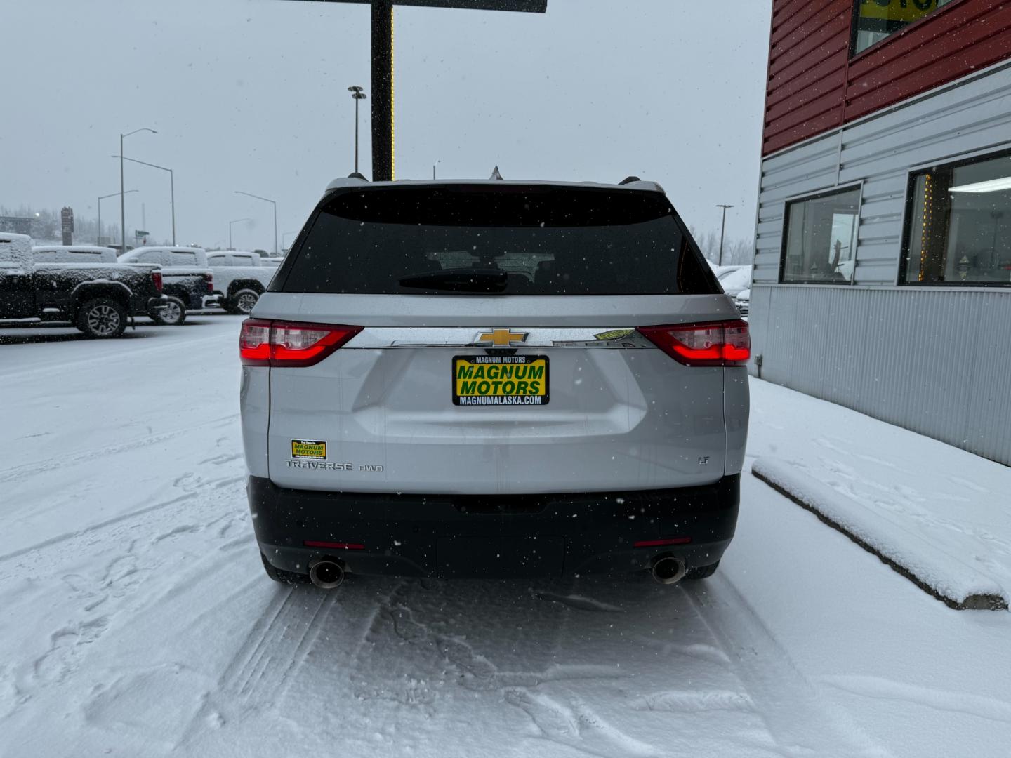
{"type": "Polygon", "coordinates": [[[260,549],[285,571],[307,573],[310,561],[331,556],[360,574],[554,577],[636,571],[659,555],[688,568],[715,563],[734,536],[740,475],[701,487],[548,495],[320,492],[256,476],[247,490],[260,549]]]}

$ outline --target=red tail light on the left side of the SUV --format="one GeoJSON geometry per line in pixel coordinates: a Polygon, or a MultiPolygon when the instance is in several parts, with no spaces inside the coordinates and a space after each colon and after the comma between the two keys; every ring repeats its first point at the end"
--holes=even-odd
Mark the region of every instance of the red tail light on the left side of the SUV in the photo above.
{"type": "Polygon", "coordinates": [[[345,345],[361,326],[247,318],[239,336],[244,366],[312,366],[345,345]]]}

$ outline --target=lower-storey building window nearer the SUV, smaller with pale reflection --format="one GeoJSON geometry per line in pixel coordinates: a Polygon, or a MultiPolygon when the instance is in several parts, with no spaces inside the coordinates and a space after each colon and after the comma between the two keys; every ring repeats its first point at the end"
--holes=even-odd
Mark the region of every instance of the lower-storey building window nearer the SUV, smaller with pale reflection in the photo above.
{"type": "Polygon", "coordinates": [[[849,284],[859,216],[859,187],[787,203],[782,281],[849,284]]]}

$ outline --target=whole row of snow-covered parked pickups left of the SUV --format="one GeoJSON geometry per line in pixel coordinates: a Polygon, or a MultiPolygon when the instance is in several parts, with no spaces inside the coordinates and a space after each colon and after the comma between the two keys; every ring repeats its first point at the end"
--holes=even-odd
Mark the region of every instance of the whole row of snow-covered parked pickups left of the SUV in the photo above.
{"type": "Polygon", "coordinates": [[[32,247],[0,234],[0,322],[66,322],[93,338],[118,337],[129,319],[178,325],[193,311],[249,313],[276,266],[242,251],[32,247]]]}

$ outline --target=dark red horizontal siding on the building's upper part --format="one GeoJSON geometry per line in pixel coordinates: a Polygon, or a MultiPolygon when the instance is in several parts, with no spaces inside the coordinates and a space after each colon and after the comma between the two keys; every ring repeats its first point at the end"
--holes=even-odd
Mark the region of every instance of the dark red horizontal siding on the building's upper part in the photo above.
{"type": "Polygon", "coordinates": [[[1011,2],[942,6],[849,58],[853,0],[773,0],[762,154],[1011,58],[1011,2]]]}

